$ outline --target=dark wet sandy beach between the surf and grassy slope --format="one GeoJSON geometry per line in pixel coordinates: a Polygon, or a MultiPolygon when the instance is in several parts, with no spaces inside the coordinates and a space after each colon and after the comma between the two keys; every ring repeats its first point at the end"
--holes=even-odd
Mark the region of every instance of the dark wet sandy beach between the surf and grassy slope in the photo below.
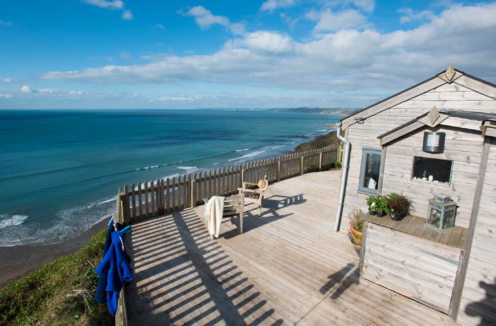
{"type": "Polygon", "coordinates": [[[74,254],[90,238],[99,231],[107,228],[108,218],[93,225],[88,231],[51,245],[21,245],[0,247],[0,288],[30,272],[48,264],[55,259],[74,254]]]}

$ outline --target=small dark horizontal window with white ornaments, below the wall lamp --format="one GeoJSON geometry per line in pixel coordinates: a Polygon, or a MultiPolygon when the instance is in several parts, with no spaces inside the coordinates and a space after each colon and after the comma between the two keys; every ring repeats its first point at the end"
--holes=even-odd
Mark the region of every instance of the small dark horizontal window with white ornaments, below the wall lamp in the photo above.
{"type": "Polygon", "coordinates": [[[411,179],[449,185],[452,166],[450,160],[415,156],[411,179]]]}

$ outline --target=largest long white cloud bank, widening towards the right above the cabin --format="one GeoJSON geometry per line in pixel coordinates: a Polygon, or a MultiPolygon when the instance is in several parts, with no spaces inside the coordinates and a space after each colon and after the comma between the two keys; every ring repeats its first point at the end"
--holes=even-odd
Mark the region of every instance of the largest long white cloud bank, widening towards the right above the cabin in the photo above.
{"type": "Polygon", "coordinates": [[[371,103],[449,64],[496,81],[496,43],[488,41],[496,35],[494,17],[496,3],[453,6],[418,28],[390,33],[347,28],[297,41],[274,31],[255,31],[228,40],[213,54],[164,54],[141,65],[51,71],[42,78],[100,84],[256,85],[261,89],[332,92],[329,96],[349,93],[353,94],[348,95],[349,101],[367,99],[371,103]]]}

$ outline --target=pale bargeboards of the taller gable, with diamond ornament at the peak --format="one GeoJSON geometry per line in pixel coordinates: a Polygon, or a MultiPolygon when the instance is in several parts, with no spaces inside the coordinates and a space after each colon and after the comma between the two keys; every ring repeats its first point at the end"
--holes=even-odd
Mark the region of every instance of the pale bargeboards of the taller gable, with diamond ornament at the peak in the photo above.
{"type": "Polygon", "coordinates": [[[471,82],[468,82],[468,80],[465,80],[465,78],[462,78],[462,80],[459,82],[460,85],[463,85],[469,89],[472,89],[475,92],[481,93],[483,95],[486,95],[488,97],[491,97],[493,99],[496,99],[496,85],[492,84],[490,82],[487,82],[486,80],[474,77],[470,74],[467,74],[461,70],[453,69],[451,65],[448,67],[446,71],[442,71],[439,74],[436,74],[435,76],[424,80],[423,82],[420,82],[406,90],[403,90],[399,93],[396,93],[384,100],[381,100],[377,103],[374,103],[362,110],[359,110],[357,112],[354,112],[344,118],[342,118],[341,125],[343,129],[346,129],[348,126],[350,126],[353,123],[356,123],[356,121],[351,120],[352,118],[367,118],[372,115],[375,115],[381,111],[387,110],[395,105],[398,105],[402,102],[408,101],[420,94],[429,92],[430,90],[433,90],[439,86],[442,86],[444,84],[451,84],[458,80],[460,77],[464,76],[465,78],[469,78],[471,82]],[[451,77],[447,78],[448,72],[451,69],[451,73],[453,74],[451,77]],[[474,83],[475,82],[475,83],[474,83]],[[480,84],[480,85],[478,85],[480,84]]]}

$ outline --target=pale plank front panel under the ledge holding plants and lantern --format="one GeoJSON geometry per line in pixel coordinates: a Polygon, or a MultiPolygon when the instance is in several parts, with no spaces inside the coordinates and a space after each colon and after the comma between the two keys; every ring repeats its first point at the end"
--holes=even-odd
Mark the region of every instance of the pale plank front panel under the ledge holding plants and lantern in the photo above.
{"type": "Polygon", "coordinates": [[[448,313],[462,250],[367,224],[362,277],[448,313]]]}

